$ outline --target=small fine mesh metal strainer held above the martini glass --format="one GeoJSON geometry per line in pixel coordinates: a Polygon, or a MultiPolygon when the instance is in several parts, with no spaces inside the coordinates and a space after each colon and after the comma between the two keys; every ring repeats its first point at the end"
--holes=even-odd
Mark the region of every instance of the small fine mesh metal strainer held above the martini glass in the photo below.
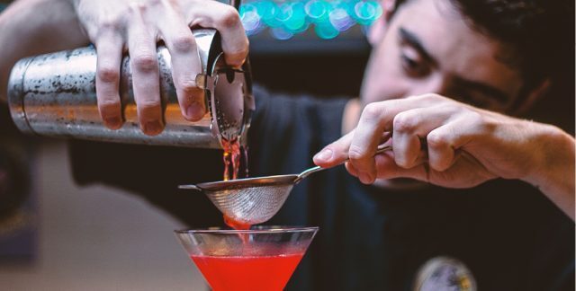
{"type": "MultiPolygon", "coordinates": [[[[391,149],[392,146],[379,147],[376,154],[391,149]]],[[[300,174],[214,181],[178,188],[202,191],[224,216],[240,224],[257,225],[275,216],[295,184],[313,172],[326,169],[316,166],[300,174]]]]}

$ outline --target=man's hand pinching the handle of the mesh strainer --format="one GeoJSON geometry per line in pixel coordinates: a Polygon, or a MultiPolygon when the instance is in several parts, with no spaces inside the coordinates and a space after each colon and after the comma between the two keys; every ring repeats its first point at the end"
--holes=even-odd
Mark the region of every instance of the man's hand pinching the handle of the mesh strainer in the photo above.
{"type": "Polygon", "coordinates": [[[539,187],[573,219],[574,138],[561,129],[481,110],[436,94],[368,104],[355,130],[314,156],[364,183],[412,178],[469,188],[495,178],[539,187]],[[393,151],[374,156],[377,146],[393,151]]]}

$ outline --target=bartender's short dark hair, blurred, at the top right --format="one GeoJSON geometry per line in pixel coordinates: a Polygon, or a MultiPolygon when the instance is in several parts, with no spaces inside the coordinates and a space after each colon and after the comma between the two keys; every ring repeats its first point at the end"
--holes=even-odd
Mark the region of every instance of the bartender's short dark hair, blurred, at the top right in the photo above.
{"type": "Polygon", "coordinates": [[[449,1],[473,30],[504,45],[497,57],[519,69],[525,90],[573,71],[574,0],[449,1]]]}

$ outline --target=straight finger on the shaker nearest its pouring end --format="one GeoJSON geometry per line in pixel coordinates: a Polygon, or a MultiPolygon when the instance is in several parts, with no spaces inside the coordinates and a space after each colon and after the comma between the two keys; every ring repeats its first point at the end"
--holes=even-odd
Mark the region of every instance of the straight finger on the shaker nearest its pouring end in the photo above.
{"type": "Polygon", "coordinates": [[[169,6],[166,12],[157,18],[157,27],[166,48],[170,51],[172,77],[180,110],[185,119],[202,119],[206,113],[204,91],[196,84],[196,75],[202,73],[196,41],[187,23],[169,6]]]}

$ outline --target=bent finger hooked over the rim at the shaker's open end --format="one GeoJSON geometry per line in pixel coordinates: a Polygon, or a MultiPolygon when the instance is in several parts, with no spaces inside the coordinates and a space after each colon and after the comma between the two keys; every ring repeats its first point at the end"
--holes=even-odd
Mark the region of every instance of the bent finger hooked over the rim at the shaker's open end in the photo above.
{"type": "Polygon", "coordinates": [[[202,9],[188,15],[192,27],[210,27],[220,32],[226,64],[242,66],[248,54],[248,38],[234,7],[217,1],[202,2],[202,9]]]}

